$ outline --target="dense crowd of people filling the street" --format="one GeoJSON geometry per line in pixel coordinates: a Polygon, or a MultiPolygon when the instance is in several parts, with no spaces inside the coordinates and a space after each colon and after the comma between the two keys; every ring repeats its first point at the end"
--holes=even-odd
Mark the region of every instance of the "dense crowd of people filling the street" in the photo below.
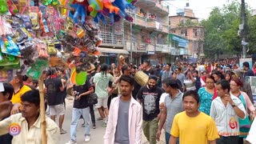
{"type": "MultiPolygon", "coordinates": [[[[66,144],[77,143],[81,118],[84,142],[90,142],[90,129],[96,128],[96,120],[102,120],[106,144],[139,144],[142,132],[155,144],[162,129],[169,144],[256,143],[256,135],[250,131],[256,125],[254,99],[245,80],[254,76],[252,69],[249,62],[243,62],[239,69],[234,60],[155,67],[148,61],[140,66],[104,63],[86,71],[82,86],[70,84],[66,70],[44,70],[45,107],[50,114],[46,117],[47,142],[58,143],[60,134],[67,132],[62,125],[65,98],[70,94],[74,105],[66,144]],[[134,79],[138,71],[148,76],[145,86],[134,79]],[[93,93],[98,96],[96,105],[87,102],[93,93]],[[94,107],[100,118],[95,118],[94,107]],[[58,126],[54,122],[57,116],[58,126]]],[[[38,81],[17,74],[11,82],[0,85],[0,143],[20,143],[20,139],[22,143],[41,143],[38,81]],[[11,123],[22,127],[21,134],[8,131],[11,123]]]]}

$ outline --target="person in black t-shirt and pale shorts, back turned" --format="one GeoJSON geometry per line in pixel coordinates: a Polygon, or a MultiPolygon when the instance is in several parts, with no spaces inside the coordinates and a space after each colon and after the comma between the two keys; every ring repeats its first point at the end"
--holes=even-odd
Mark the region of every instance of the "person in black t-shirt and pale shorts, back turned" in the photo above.
{"type": "Polygon", "coordinates": [[[61,134],[66,134],[66,130],[62,129],[62,125],[65,117],[64,99],[62,97],[62,91],[64,90],[61,78],[57,77],[57,72],[54,69],[48,71],[50,78],[45,81],[46,94],[48,96],[48,106],[50,110],[50,118],[54,120],[59,114],[58,126],[61,130],[61,134]]]}

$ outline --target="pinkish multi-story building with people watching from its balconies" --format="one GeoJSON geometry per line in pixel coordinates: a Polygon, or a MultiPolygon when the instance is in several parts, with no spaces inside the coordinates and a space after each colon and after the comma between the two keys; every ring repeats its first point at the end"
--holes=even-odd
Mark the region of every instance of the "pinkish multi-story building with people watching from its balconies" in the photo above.
{"type": "Polygon", "coordinates": [[[134,22],[126,22],[126,50],[132,55],[131,62],[136,64],[150,60],[152,65],[166,62],[168,49],[168,6],[157,0],[140,0],[135,10],[128,10],[134,22]]]}

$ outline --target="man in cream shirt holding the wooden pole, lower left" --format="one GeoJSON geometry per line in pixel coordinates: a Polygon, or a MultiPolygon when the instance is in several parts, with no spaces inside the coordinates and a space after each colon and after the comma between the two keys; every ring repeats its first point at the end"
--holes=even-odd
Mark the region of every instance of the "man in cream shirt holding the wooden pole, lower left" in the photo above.
{"type": "MultiPolygon", "coordinates": [[[[9,105],[9,104],[7,104],[9,105]]],[[[7,109],[0,104],[0,119],[7,109]]],[[[40,118],[40,98],[38,90],[29,90],[22,95],[22,113],[11,115],[0,122],[0,135],[12,134],[12,144],[42,143],[42,127],[40,118]],[[14,124],[15,125],[12,125],[14,124]]],[[[46,138],[49,144],[59,143],[59,128],[56,123],[46,117],[46,138]]]]}

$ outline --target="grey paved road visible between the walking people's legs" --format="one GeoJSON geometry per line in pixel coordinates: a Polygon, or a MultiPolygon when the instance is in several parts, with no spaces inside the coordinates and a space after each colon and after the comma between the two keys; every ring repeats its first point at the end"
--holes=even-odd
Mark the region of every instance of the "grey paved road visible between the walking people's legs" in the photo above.
{"type": "MultiPolygon", "coordinates": [[[[64,120],[64,125],[63,129],[67,130],[66,134],[61,134],[60,138],[60,144],[65,144],[70,140],[70,122],[71,122],[71,114],[72,114],[72,107],[73,107],[73,100],[68,100],[66,99],[66,115],[65,115],[65,120],[64,120]]],[[[98,118],[98,110],[95,110],[95,117],[98,118]]],[[[58,122],[58,119],[57,119],[58,122]]],[[[102,121],[97,121],[96,122],[96,129],[91,129],[90,130],[90,142],[87,143],[94,143],[94,144],[103,144],[103,135],[105,134],[106,127],[101,126],[102,121]]],[[[82,120],[79,120],[78,122],[78,144],[86,143],[84,142],[84,136],[83,136],[83,127],[82,125],[82,120]]],[[[162,135],[164,135],[162,133],[162,135]]],[[[164,137],[162,138],[162,142],[159,142],[161,144],[165,143],[163,142],[164,137]]],[[[146,138],[143,136],[142,137],[142,144],[146,144],[149,142],[146,142],[146,138]]]]}

